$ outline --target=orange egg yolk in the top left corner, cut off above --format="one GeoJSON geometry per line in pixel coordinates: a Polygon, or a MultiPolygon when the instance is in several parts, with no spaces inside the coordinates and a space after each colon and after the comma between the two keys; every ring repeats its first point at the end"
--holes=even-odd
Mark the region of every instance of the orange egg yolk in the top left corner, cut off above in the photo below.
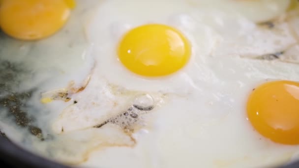
{"type": "Polygon", "coordinates": [[[21,40],[48,37],[63,27],[74,0],[1,0],[0,27],[21,40]]]}

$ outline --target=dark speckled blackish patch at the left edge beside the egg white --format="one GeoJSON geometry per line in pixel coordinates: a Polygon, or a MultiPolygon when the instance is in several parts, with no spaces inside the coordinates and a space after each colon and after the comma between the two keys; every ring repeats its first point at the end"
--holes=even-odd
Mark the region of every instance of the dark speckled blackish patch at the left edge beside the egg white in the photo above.
{"type": "Polygon", "coordinates": [[[27,114],[30,97],[34,91],[15,92],[13,88],[18,87],[22,81],[19,76],[25,76],[28,72],[19,64],[12,64],[8,61],[0,60],[0,112],[7,112],[12,116],[14,122],[24,128],[39,139],[42,139],[42,131],[32,123],[34,118],[27,114]],[[3,109],[3,110],[1,110],[3,109]]]}

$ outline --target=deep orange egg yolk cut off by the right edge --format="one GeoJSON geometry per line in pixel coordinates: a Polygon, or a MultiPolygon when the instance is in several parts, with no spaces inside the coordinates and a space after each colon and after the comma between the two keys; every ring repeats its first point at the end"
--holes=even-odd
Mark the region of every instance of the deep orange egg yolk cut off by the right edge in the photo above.
{"type": "Polygon", "coordinates": [[[260,134],[282,144],[299,144],[299,83],[274,81],[255,88],[248,119],[260,134]]]}

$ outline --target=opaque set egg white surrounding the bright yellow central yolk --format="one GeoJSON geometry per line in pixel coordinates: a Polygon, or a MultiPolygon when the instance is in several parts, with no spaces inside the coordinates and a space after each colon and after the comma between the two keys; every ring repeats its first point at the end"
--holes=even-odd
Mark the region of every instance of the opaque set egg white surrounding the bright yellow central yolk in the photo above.
{"type": "MultiPolygon", "coordinates": [[[[78,2],[85,6],[85,1],[78,2]]],[[[245,113],[246,99],[257,85],[267,80],[298,80],[298,19],[277,20],[283,18],[289,2],[93,3],[88,8],[92,9],[92,17],[82,22],[86,24],[85,34],[77,32],[84,41],[82,48],[76,47],[82,49],[77,58],[65,53],[59,64],[50,56],[37,59],[44,60],[43,68],[57,65],[66,72],[49,78],[52,81],[39,91],[50,92],[42,95],[55,94],[51,89],[69,89],[71,80],[74,87],[80,88],[88,75],[90,81],[82,91],[70,92],[70,101],[42,105],[48,113],[39,119],[49,127],[45,132],[54,137],[45,143],[32,141],[29,146],[53,160],[81,167],[249,168],[298,158],[298,145],[280,145],[262,137],[253,130],[245,113]],[[274,28],[259,25],[269,20],[275,20],[274,28]],[[123,34],[149,23],[177,28],[190,41],[191,59],[178,72],[147,78],[130,72],[118,60],[117,46],[123,34]],[[280,59],[257,59],[282,50],[280,59]],[[140,98],[144,95],[152,98],[154,109],[142,114],[133,132],[128,134],[111,123],[94,128],[134,103],[142,103],[140,98]]],[[[80,12],[76,16],[79,15],[80,12]]],[[[62,44],[66,42],[58,46],[62,44]]],[[[40,64],[36,67],[42,69],[40,64]]],[[[40,93],[35,96],[32,104],[39,101],[40,93]]]]}

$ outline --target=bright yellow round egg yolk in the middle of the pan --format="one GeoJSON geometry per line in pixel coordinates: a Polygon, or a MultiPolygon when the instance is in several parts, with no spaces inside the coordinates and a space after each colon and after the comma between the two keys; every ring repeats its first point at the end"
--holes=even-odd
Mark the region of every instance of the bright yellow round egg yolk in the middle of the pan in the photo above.
{"type": "Polygon", "coordinates": [[[182,68],[190,58],[191,46],[179,30],[150,24],[127,32],[120,41],[118,55],[130,71],[157,77],[182,68]]]}

